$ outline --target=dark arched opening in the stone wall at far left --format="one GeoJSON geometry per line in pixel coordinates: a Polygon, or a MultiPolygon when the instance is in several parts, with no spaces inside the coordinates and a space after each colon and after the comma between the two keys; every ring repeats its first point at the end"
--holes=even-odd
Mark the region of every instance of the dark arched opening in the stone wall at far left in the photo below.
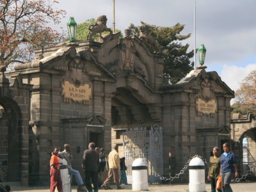
{"type": "Polygon", "coordinates": [[[0,178],[17,182],[21,175],[20,109],[10,98],[0,99],[0,178]]]}

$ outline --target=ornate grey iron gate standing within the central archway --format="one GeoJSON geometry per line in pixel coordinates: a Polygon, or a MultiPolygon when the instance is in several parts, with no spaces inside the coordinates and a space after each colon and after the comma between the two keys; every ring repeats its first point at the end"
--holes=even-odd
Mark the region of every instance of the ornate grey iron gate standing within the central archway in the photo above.
{"type": "Polygon", "coordinates": [[[163,138],[159,125],[134,128],[123,133],[125,164],[127,166],[127,181],[132,183],[132,162],[142,158],[148,167],[148,182],[159,182],[155,173],[163,174],[163,138]]]}

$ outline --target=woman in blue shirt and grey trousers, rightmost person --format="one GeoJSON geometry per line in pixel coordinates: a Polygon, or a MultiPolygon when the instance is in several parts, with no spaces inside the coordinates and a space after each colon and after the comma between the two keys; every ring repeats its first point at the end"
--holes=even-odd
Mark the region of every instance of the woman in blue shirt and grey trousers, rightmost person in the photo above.
{"type": "Polygon", "coordinates": [[[221,174],[221,186],[223,192],[232,192],[230,182],[235,176],[238,177],[238,170],[236,164],[236,156],[233,152],[230,152],[230,145],[228,143],[223,144],[224,153],[220,157],[220,174],[221,174]]]}

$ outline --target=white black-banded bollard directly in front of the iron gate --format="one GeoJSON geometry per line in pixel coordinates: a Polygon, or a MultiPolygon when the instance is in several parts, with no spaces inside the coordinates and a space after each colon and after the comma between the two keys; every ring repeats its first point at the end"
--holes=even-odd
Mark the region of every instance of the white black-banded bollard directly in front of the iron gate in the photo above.
{"type": "Polygon", "coordinates": [[[147,164],[141,158],[132,163],[132,191],[148,191],[147,164]]]}

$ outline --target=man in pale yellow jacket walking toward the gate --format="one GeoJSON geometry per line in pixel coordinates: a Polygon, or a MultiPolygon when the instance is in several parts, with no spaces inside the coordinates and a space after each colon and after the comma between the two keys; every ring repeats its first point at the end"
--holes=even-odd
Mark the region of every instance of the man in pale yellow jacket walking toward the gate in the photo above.
{"type": "Polygon", "coordinates": [[[108,155],[109,171],[108,178],[102,184],[103,189],[108,189],[108,183],[113,177],[117,189],[122,189],[119,185],[120,180],[120,158],[118,155],[118,145],[114,145],[113,150],[108,155]]]}

